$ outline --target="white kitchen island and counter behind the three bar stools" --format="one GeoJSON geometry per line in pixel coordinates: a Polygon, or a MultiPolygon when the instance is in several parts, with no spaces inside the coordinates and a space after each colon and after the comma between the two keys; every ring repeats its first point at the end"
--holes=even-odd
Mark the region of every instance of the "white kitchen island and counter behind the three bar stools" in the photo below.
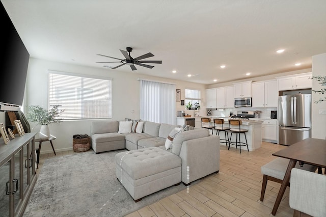
{"type": "MultiPolygon", "coordinates": [[[[189,118],[189,117],[188,117],[189,118]]],[[[201,127],[201,118],[202,117],[190,117],[196,119],[196,127],[201,127]]],[[[225,126],[229,126],[229,117],[216,117],[216,116],[209,116],[209,117],[203,117],[203,118],[210,118],[212,126],[214,125],[213,119],[214,118],[222,118],[224,119],[225,126]]],[[[177,125],[183,125],[184,124],[183,117],[177,118],[177,125]]],[[[246,119],[240,119],[242,121],[241,128],[248,129],[248,132],[246,132],[247,142],[248,142],[248,148],[249,151],[254,151],[261,147],[261,140],[262,140],[262,123],[263,120],[246,120],[246,119]]],[[[217,126],[217,125],[216,125],[217,126]]],[[[233,126],[232,128],[235,128],[236,126],[233,126]]],[[[214,134],[216,131],[214,130],[214,134]]],[[[222,139],[224,139],[224,133],[220,134],[222,139]]],[[[231,133],[229,132],[229,138],[231,136],[231,133]]],[[[246,141],[244,138],[243,133],[240,135],[241,142],[246,141]]],[[[232,135],[232,141],[235,142],[236,135],[232,135]]],[[[221,145],[224,145],[223,143],[221,145]]],[[[235,149],[235,146],[231,145],[231,149],[235,149]]],[[[242,148],[241,148],[242,149],[242,148]]],[[[244,148],[246,150],[246,148],[244,148]]]]}

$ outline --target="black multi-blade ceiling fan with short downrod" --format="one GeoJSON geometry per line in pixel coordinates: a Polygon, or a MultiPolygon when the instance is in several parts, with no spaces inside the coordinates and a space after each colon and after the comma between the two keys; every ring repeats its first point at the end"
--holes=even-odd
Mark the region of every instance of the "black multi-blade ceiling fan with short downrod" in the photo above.
{"type": "Polygon", "coordinates": [[[143,60],[145,58],[154,57],[154,55],[152,53],[150,53],[150,52],[146,53],[145,55],[139,56],[137,58],[132,58],[130,56],[130,52],[132,51],[132,48],[127,47],[126,50],[127,51],[120,50],[122,52],[122,55],[126,58],[124,60],[119,59],[119,58],[115,58],[115,57],[109,57],[109,56],[98,54],[98,56],[108,57],[108,58],[112,58],[112,59],[116,59],[116,60],[120,60],[120,61],[116,61],[116,62],[96,62],[96,63],[122,63],[121,65],[113,67],[112,69],[119,68],[120,66],[123,66],[123,65],[128,65],[128,66],[130,66],[132,71],[137,70],[137,68],[134,65],[139,65],[139,66],[143,66],[143,67],[151,69],[154,66],[150,66],[150,65],[147,65],[147,64],[143,64],[143,63],[157,63],[157,64],[162,63],[162,61],[160,61],[160,60],[143,60]]]}

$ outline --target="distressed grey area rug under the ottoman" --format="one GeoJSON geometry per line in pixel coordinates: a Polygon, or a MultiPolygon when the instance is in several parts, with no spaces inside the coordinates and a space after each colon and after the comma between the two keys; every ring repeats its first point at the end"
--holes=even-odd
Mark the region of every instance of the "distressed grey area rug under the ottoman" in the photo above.
{"type": "Polygon", "coordinates": [[[115,175],[121,151],[46,159],[23,216],[124,216],[186,188],[171,186],[135,203],[115,175]]]}

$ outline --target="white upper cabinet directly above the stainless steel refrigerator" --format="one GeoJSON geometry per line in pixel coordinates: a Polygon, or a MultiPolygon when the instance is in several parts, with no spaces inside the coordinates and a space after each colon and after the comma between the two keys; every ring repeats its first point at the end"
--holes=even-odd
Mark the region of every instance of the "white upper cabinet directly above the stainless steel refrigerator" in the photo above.
{"type": "Polygon", "coordinates": [[[311,88],[312,73],[278,77],[279,91],[311,88]]]}

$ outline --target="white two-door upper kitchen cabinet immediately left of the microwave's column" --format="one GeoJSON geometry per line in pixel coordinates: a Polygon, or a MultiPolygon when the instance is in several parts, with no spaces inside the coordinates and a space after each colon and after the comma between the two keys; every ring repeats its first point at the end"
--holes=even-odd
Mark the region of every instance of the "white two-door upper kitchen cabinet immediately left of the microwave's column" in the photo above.
{"type": "Polygon", "coordinates": [[[216,89],[217,106],[218,108],[233,108],[234,107],[234,87],[223,87],[216,89]]]}

